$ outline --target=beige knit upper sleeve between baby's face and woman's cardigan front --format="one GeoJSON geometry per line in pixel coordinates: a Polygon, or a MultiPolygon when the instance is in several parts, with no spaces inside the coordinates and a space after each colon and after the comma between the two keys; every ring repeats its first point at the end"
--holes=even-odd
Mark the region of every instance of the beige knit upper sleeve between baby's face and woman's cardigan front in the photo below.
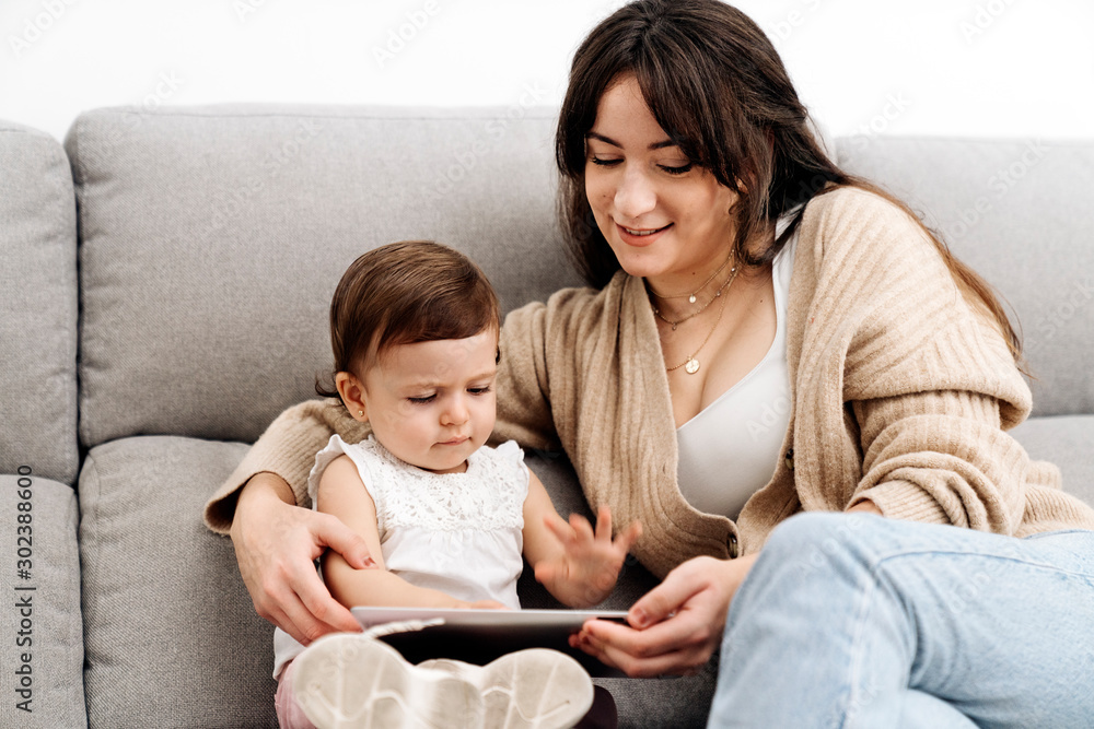
{"type": "Polygon", "coordinates": [[[548,398],[547,306],[532,303],[505,317],[498,363],[498,421],[492,443],[516,440],[527,448],[559,450],[548,398]]]}

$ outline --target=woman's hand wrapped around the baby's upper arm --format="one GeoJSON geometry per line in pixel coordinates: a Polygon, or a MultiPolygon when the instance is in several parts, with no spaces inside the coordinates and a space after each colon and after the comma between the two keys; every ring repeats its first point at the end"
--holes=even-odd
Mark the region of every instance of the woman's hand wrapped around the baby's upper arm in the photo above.
{"type": "Polygon", "coordinates": [[[240,493],[231,534],[259,615],[304,645],[326,633],[361,630],[313,564],[329,548],[358,569],[376,566],[364,540],[336,517],[295,506],[283,479],[259,473],[240,493]]]}

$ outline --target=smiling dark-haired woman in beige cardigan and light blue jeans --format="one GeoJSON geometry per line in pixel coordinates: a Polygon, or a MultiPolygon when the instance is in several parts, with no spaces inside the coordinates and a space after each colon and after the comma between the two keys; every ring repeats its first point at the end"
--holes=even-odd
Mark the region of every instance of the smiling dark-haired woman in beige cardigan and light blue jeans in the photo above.
{"type": "MultiPolygon", "coordinates": [[[[496,436],[560,445],[665,577],[630,626],[575,643],[651,675],[697,670],[724,635],[715,726],[1094,712],[1089,670],[1054,681],[1094,650],[1075,627],[1094,510],[1004,433],[1031,407],[1017,338],[904,205],[827,158],[756,25],[714,0],[614,13],[575,54],[557,158],[594,290],[507,318],[496,436]],[[784,427],[749,427],[779,402],[784,427]]],[[[331,432],[361,436],[322,403],[287,411],[207,510],[226,525],[238,494],[256,608],[305,640],[354,630],[309,560],[364,566],[340,525],[289,506],[331,432]]]]}

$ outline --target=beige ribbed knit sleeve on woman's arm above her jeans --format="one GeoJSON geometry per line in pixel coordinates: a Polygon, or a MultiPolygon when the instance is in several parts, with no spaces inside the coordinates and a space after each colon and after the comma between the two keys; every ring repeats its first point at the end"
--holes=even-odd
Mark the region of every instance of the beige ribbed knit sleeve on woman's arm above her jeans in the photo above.
{"type": "MultiPolygon", "coordinates": [[[[811,317],[826,321],[802,366],[826,363],[806,378],[838,381],[841,397],[805,403],[799,423],[823,444],[814,487],[841,481],[837,507],[870,499],[894,518],[1015,533],[1035,465],[1005,430],[1026,416],[1031,395],[997,325],[896,205],[856,191],[822,227],[811,317]],[[837,473],[830,463],[852,459],[831,455],[854,451],[853,470],[837,473]]],[[[811,449],[802,445],[796,460],[811,449]]]]}

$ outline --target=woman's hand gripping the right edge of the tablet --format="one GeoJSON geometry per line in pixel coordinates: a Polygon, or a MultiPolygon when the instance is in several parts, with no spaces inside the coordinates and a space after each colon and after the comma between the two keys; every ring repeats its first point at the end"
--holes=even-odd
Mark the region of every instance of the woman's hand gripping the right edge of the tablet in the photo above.
{"type": "Polygon", "coordinates": [[[631,677],[697,673],[721,643],[730,602],[756,556],[689,560],[631,607],[628,625],[591,620],[570,645],[631,677]]]}

